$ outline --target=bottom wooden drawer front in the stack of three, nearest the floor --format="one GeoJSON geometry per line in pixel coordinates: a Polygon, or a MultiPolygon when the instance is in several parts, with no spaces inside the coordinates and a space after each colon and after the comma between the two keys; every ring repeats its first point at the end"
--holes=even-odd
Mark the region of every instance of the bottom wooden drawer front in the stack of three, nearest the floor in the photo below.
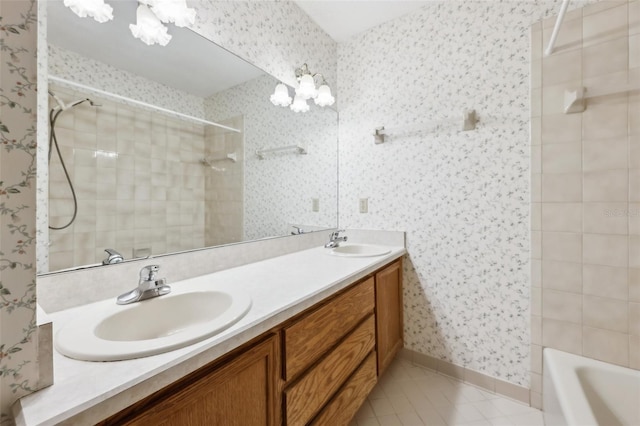
{"type": "Polygon", "coordinates": [[[372,352],[336,396],[313,419],[311,425],[348,425],[373,390],[376,381],[376,354],[372,352]]]}

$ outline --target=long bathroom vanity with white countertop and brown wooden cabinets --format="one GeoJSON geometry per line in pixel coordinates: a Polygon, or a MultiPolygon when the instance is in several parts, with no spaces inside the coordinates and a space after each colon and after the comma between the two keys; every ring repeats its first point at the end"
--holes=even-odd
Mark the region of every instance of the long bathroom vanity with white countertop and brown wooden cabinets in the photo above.
{"type": "MultiPolygon", "coordinates": [[[[253,305],[229,329],[154,356],[54,353],[55,384],[16,404],[17,423],[347,424],[402,347],[404,253],[317,247],[185,280],[243,283],[253,305]]],[[[82,308],[54,313],[54,327],[82,308]]]]}

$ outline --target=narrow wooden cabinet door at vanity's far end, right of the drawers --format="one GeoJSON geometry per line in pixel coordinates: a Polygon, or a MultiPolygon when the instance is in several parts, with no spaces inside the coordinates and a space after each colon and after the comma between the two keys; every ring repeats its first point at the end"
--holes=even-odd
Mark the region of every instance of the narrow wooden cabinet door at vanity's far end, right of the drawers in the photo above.
{"type": "Polygon", "coordinates": [[[376,273],[378,376],[402,348],[402,261],[376,273]]]}

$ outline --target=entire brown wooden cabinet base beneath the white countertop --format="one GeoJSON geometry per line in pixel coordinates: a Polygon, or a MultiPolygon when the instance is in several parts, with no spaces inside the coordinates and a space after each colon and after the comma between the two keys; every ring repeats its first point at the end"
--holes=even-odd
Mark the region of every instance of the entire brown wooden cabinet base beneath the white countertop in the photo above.
{"type": "Polygon", "coordinates": [[[402,326],[397,260],[100,425],[347,425],[402,326]]]}

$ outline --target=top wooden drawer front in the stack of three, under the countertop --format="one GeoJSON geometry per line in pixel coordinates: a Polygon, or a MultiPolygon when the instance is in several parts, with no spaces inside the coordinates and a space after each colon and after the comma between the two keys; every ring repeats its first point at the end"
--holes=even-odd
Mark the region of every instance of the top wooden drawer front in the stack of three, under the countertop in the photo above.
{"type": "Polygon", "coordinates": [[[373,312],[373,277],[284,329],[285,371],[290,380],[373,312]]]}

